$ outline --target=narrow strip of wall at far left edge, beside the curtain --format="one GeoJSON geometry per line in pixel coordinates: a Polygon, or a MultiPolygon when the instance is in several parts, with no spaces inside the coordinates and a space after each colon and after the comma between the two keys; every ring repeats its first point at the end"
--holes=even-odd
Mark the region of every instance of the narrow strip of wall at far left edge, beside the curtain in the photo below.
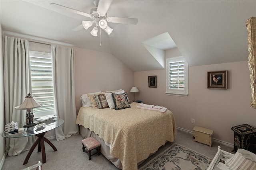
{"type": "MultiPolygon", "coordinates": [[[[3,65],[3,31],[0,25],[0,133],[4,131],[4,65],[3,65]]],[[[0,169],[2,168],[5,153],[5,140],[0,136],[0,169]]]]}

